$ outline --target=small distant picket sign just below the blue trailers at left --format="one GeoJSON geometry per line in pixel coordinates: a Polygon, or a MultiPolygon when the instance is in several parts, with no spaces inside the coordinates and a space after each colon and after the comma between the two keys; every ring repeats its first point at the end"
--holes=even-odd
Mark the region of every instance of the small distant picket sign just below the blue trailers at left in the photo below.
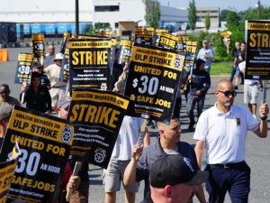
{"type": "Polygon", "coordinates": [[[33,58],[45,57],[45,39],[44,34],[32,34],[32,54],[33,58]]]}

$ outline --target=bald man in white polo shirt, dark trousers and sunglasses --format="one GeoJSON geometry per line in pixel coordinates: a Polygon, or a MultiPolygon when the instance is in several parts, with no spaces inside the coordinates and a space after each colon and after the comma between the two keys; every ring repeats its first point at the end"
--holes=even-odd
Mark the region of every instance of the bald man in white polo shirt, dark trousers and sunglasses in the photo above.
{"type": "Polygon", "coordinates": [[[197,140],[195,152],[200,166],[205,149],[205,171],[210,174],[206,181],[209,202],[224,202],[227,191],[232,203],[248,202],[250,168],[245,161],[247,131],[261,138],[267,136],[268,104],[261,102],[261,121],[257,121],[245,106],[233,105],[237,92],[227,79],[217,84],[215,96],[217,102],[202,113],[193,135],[197,140]]]}

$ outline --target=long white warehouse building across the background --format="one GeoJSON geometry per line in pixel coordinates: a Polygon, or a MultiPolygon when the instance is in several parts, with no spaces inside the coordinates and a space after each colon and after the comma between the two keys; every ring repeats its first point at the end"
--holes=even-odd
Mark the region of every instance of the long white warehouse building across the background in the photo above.
{"type": "MultiPolygon", "coordinates": [[[[79,22],[110,23],[118,32],[119,22],[147,25],[141,0],[79,0],[79,22]]],[[[0,21],[15,23],[75,23],[75,1],[0,0],[0,21]]],[[[187,10],[160,6],[160,27],[171,24],[179,29],[187,23],[187,10]]]]}

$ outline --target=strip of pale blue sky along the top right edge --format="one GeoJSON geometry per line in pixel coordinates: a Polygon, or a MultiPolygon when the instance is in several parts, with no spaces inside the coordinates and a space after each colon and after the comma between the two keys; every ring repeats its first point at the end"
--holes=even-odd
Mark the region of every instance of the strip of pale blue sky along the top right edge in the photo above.
{"type": "MultiPolygon", "coordinates": [[[[191,0],[158,0],[160,5],[170,7],[188,7],[191,0]]],[[[270,6],[269,0],[260,0],[261,5],[270,6]]],[[[235,8],[236,11],[247,10],[248,7],[256,7],[257,0],[195,0],[197,7],[220,7],[220,11],[228,7],[235,8]]]]}

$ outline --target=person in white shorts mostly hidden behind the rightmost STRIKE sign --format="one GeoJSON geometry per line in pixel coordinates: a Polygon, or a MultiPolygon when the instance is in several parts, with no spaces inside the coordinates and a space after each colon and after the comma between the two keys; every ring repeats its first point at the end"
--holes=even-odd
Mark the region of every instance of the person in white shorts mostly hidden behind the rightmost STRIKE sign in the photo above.
{"type": "MultiPolygon", "coordinates": [[[[246,60],[245,54],[242,54],[244,58],[243,62],[240,62],[238,68],[245,75],[246,69],[246,60]]],[[[245,79],[244,80],[244,103],[247,104],[249,111],[252,115],[256,117],[257,114],[257,100],[258,100],[258,84],[260,84],[260,88],[263,87],[262,80],[257,79],[245,79]]]]}

